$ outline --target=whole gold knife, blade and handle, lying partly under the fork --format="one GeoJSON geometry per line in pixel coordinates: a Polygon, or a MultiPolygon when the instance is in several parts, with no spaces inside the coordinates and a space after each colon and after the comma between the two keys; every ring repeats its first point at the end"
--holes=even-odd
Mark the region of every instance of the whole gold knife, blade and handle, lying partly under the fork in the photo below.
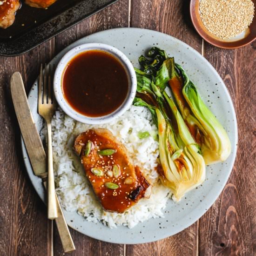
{"type": "MultiPolygon", "coordinates": [[[[20,131],[34,174],[45,179],[47,177],[46,155],[28,105],[26,91],[19,72],[15,72],[12,75],[11,94],[15,113],[20,125],[20,131]]],[[[44,185],[46,186],[46,182],[44,182],[44,185]]],[[[61,237],[61,243],[65,252],[71,252],[75,250],[74,242],[67,227],[67,222],[61,210],[57,195],[56,200],[58,218],[55,219],[55,222],[61,237]]]]}

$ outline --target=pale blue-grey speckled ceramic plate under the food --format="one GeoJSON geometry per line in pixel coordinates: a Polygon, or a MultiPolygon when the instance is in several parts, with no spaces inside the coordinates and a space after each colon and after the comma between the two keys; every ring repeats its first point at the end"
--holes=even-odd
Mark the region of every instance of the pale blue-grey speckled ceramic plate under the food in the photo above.
{"type": "MultiPolygon", "coordinates": [[[[89,35],[64,49],[51,61],[51,64],[57,64],[71,48],[93,42],[105,43],[118,48],[137,67],[138,57],[150,47],[158,46],[165,49],[170,56],[175,57],[177,63],[182,64],[191,80],[199,88],[206,104],[228,131],[232,150],[226,162],[206,168],[206,181],[197,189],[190,191],[181,202],[176,203],[169,200],[164,209],[164,218],[150,219],[138,224],[133,229],[123,226],[109,229],[100,222],[88,222],[76,212],[64,210],[67,223],[71,228],[87,236],[111,243],[147,243],[172,236],[189,227],[211,207],[220,195],[232,170],[236,157],[237,124],[228,90],[216,70],[193,48],[169,35],[146,29],[118,28],[89,35]]],[[[37,81],[35,81],[28,98],[34,121],[40,130],[42,120],[37,114],[37,81]]],[[[33,173],[23,141],[22,151],[28,175],[38,195],[44,200],[45,191],[40,178],[33,173]]]]}

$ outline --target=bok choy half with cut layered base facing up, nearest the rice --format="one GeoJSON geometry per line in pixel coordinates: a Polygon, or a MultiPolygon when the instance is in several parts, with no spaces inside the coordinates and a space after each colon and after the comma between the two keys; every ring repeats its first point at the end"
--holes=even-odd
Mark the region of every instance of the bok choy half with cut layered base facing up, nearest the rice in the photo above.
{"type": "MultiPolygon", "coordinates": [[[[190,135],[189,129],[168,95],[151,83],[144,84],[141,90],[141,73],[135,69],[138,81],[138,94],[134,105],[150,110],[158,127],[160,178],[173,193],[173,200],[179,201],[189,190],[199,186],[205,179],[205,163],[199,146],[190,135]]],[[[167,81],[166,81],[167,82],[167,81]]]]}

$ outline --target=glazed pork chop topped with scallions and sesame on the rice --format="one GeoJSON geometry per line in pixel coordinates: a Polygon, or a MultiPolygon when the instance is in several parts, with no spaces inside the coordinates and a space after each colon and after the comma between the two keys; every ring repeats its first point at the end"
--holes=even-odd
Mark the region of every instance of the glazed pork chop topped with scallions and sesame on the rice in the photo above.
{"type": "Polygon", "coordinates": [[[151,185],[107,129],[81,133],[74,141],[74,150],[105,210],[123,213],[150,194],[151,185]]]}

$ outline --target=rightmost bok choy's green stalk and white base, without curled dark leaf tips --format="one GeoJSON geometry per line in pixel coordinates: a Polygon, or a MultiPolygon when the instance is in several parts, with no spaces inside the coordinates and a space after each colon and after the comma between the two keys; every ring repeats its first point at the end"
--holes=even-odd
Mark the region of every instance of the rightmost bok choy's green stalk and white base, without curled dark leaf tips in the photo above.
{"type": "Polygon", "coordinates": [[[206,164],[225,161],[231,152],[229,137],[213,113],[206,107],[184,69],[175,64],[168,82],[189,130],[202,149],[206,164]]]}

